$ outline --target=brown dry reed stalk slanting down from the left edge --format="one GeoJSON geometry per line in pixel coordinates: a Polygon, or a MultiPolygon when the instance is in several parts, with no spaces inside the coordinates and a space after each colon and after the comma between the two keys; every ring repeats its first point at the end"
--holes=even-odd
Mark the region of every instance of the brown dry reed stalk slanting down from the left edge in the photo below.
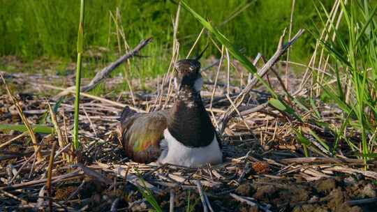
{"type": "Polygon", "coordinates": [[[10,92],[10,90],[8,88],[8,84],[6,84],[6,81],[3,78],[3,75],[1,75],[1,73],[0,73],[0,77],[3,80],[3,84],[4,84],[5,88],[6,88],[6,91],[8,92],[9,98],[12,100],[13,104],[15,105],[15,107],[17,109],[18,115],[22,119],[22,122],[24,123],[24,126],[27,128],[27,131],[29,132],[29,135],[30,135],[30,138],[31,138],[31,142],[33,142],[34,151],[36,153],[37,160],[39,162],[39,161],[43,160],[43,157],[42,157],[42,154],[40,153],[39,148],[38,148],[39,144],[38,144],[38,141],[37,141],[37,138],[36,138],[36,134],[34,134],[34,130],[31,128],[29,120],[27,120],[27,117],[22,112],[21,105],[17,102],[17,100],[15,99],[15,97],[10,92]]]}

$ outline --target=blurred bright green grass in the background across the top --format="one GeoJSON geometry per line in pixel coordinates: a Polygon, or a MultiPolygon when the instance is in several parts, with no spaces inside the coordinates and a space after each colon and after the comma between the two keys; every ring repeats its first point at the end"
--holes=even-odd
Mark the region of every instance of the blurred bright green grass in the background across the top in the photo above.
{"type": "MultiPolygon", "coordinates": [[[[17,54],[27,59],[38,56],[74,59],[75,26],[79,20],[76,2],[0,0],[0,55],[17,54]]],[[[315,10],[308,4],[311,3],[296,3],[294,26],[310,27],[312,19],[318,21],[315,10]]],[[[329,6],[331,1],[325,1],[325,4],[329,6]]],[[[267,56],[272,54],[273,40],[279,39],[279,34],[288,26],[290,17],[290,0],[195,0],[190,1],[190,6],[204,17],[211,17],[212,24],[228,34],[228,38],[234,40],[237,47],[244,48],[246,55],[256,55],[257,52],[264,52],[267,56]],[[238,11],[242,12],[237,13],[238,11]]],[[[121,24],[131,47],[140,39],[153,36],[156,45],[149,46],[149,49],[154,47],[156,50],[151,50],[150,53],[153,54],[150,56],[161,61],[159,55],[162,51],[171,52],[168,50],[173,33],[171,17],[176,10],[172,1],[92,1],[86,8],[84,45],[109,44],[112,52],[116,52],[116,39],[110,39],[108,43],[109,36],[113,36],[112,33],[109,34],[109,28],[114,32],[114,25],[109,22],[109,11],[114,13],[116,8],[123,14],[121,24]]],[[[201,29],[200,24],[193,22],[193,17],[186,11],[183,11],[180,22],[177,36],[181,52],[188,52],[201,29]]],[[[306,39],[311,38],[308,36],[306,39]]],[[[301,51],[295,51],[297,54],[293,55],[293,59],[304,58],[311,49],[311,45],[304,40],[298,45],[297,49],[301,51]]],[[[207,50],[209,54],[211,51],[218,54],[214,48],[207,50]]],[[[162,59],[168,61],[170,58],[162,59]]]]}

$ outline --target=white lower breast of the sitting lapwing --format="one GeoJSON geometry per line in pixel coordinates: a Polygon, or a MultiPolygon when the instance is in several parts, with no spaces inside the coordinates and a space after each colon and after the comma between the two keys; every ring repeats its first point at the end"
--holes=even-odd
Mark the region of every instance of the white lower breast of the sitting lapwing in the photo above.
{"type": "Polygon", "coordinates": [[[217,142],[216,135],[208,146],[196,148],[187,147],[179,143],[170,134],[168,129],[163,131],[163,135],[165,137],[161,141],[163,152],[157,160],[160,164],[170,163],[185,167],[200,167],[207,163],[216,165],[223,161],[223,153],[221,152],[219,142],[217,142]]]}

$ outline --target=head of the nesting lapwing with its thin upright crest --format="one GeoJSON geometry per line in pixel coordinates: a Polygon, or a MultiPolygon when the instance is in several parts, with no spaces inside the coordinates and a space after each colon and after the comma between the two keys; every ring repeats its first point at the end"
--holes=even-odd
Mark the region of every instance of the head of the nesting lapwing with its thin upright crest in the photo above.
{"type": "MultiPolygon", "coordinates": [[[[205,48],[205,50],[207,47],[205,48]]],[[[182,59],[175,63],[175,78],[174,83],[176,89],[182,89],[184,86],[188,86],[195,92],[200,92],[203,85],[202,75],[200,74],[200,62],[202,57],[202,51],[195,59],[182,59]]]]}

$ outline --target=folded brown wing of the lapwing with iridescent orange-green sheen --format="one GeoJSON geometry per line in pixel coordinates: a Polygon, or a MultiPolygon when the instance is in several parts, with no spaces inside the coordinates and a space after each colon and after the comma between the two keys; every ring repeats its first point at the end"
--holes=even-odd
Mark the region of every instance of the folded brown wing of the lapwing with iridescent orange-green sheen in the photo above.
{"type": "Polygon", "coordinates": [[[121,116],[119,135],[126,156],[135,162],[154,162],[161,155],[160,141],[168,111],[121,116]]]}

